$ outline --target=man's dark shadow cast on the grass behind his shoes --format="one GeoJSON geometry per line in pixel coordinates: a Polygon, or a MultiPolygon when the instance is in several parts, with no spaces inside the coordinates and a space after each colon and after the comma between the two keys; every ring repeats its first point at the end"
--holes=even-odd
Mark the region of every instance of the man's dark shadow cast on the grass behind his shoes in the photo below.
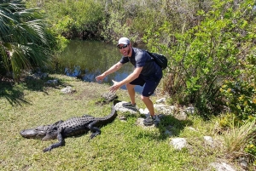
{"type": "Polygon", "coordinates": [[[152,140],[166,140],[170,137],[178,137],[183,129],[189,125],[192,125],[191,120],[178,120],[171,115],[166,115],[160,119],[160,124],[156,126],[159,129],[160,134],[154,134],[153,132],[138,134],[137,138],[143,138],[148,136],[152,140]]]}

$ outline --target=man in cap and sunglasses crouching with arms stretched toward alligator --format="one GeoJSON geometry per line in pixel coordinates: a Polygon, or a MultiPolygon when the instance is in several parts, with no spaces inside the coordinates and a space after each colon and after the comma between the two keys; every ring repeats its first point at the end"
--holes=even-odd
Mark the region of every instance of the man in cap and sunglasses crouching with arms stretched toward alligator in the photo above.
{"type": "Polygon", "coordinates": [[[108,71],[103,72],[101,75],[96,77],[96,81],[102,81],[104,77],[118,71],[125,63],[131,62],[135,67],[134,71],[120,82],[113,81],[113,86],[109,89],[111,92],[115,92],[121,86],[126,85],[128,94],[130,96],[131,102],[125,104],[126,106],[136,106],[135,103],[135,90],[136,85],[143,86],[143,92],[141,94],[141,99],[143,103],[147,106],[149,111],[149,116],[143,121],[144,125],[152,125],[160,121],[159,117],[154,113],[153,102],[149,99],[149,96],[154,94],[155,88],[160,83],[162,78],[162,70],[154,60],[151,59],[151,56],[144,50],[139,48],[132,48],[131,42],[127,37],[121,37],[119,39],[118,48],[123,57],[119,60],[118,63],[111,66],[108,71]]]}

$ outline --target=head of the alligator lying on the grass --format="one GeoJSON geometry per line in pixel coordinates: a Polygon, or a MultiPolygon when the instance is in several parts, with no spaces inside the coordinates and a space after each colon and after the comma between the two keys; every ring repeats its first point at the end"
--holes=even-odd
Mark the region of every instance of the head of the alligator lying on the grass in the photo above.
{"type": "MultiPolygon", "coordinates": [[[[49,131],[49,128],[57,128],[60,123],[63,121],[58,121],[54,124],[51,125],[44,125],[44,126],[38,126],[37,128],[29,128],[29,129],[24,129],[20,131],[20,135],[26,139],[41,139],[45,137],[47,132],[49,131]]],[[[55,129],[53,129],[55,130],[55,129]]],[[[44,139],[44,140],[49,140],[49,139],[44,139]]]]}

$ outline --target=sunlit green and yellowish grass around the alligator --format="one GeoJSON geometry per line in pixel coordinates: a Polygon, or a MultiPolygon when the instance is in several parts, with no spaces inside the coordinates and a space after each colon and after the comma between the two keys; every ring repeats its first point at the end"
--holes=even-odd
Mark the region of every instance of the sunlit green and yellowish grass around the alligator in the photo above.
{"type": "MultiPolygon", "coordinates": [[[[139,114],[126,115],[127,122],[118,118],[101,128],[102,134],[89,140],[90,133],[66,139],[66,145],[50,152],[43,152],[56,140],[28,140],[20,130],[55,123],[84,114],[102,117],[111,111],[111,105],[96,105],[108,85],[85,83],[73,77],[50,75],[59,84],[49,86],[45,81],[28,81],[8,86],[0,84],[0,168],[1,170],[206,170],[211,162],[228,161],[223,145],[207,145],[204,135],[213,140],[223,140],[216,132],[215,121],[203,121],[189,116],[178,121],[165,117],[158,128],[136,125],[139,114]],[[73,94],[62,94],[61,88],[71,86],[73,94]],[[166,128],[172,137],[165,133],[166,128]],[[194,129],[191,129],[194,128],[194,129]],[[189,142],[182,151],[170,145],[173,137],[183,137],[189,142]]],[[[117,92],[119,100],[128,101],[125,90],[117,92]]],[[[158,97],[154,96],[153,100],[158,97]]],[[[137,105],[145,106],[139,100],[137,105]]],[[[224,143],[224,140],[222,141],[224,143]]]]}

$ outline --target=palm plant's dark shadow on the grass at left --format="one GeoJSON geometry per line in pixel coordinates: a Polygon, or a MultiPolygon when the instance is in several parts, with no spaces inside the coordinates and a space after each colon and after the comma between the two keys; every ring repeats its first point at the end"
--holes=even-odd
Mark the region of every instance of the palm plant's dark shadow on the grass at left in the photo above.
{"type": "MultiPolygon", "coordinates": [[[[4,98],[9,101],[10,105],[22,105],[29,104],[27,100],[24,99],[24,90],[29,91],[40,91],[47,94],[44,91],[45,87],[59,88],[59,86],[64,85],[60,80],[57,84],[47,84],[48,80],[55,79],[54,77],[47,77],[46,79],[25,79],[20,83],[10,83],[10,82],[0,82],[0,98],[4,98]]],[[[65,84],[66,85],[66,84],[65,84]]]]}

